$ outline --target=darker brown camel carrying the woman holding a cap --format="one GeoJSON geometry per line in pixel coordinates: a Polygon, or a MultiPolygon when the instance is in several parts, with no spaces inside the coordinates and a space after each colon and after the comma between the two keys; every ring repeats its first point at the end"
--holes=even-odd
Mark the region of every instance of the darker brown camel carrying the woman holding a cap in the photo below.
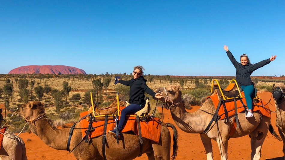
{"type": "MultiPolygon", "coordinates": [[[[44,141],[44,143],[47,144],[49,147],[52,147],[57,150],[67,150],[66,146],[70,129],[55,128],[52,121],[48,117],[46,117],[44,111],[44,106],[41,104],[41,102],[31,101],[22,105],[19,108],[17,115],[25,117],[27,120],[36,119],[33,123],[30,124],[30,129],[35,135],[38,135],[41,140],[44,141]],[[43,117],[40,118],[39,115],[43,115],[43,117]]],[[[161,138],[158,143],[143,138],[143,153],[147,153],[149,159],[170,159],[171,137],[167,126],[172,127],[175,136],[173,138],[174,145],[172,156],[172,159],[175,159],[177,152],[177,131],[175,126],[170,123],[165,123],[165,125],[161,127],[161,138]]],[[[80,123],[77,123],[75,127],[80,128],[80,123]]],[[[76,159],[101,160],[104,159],[102,152],[102,137],[103,136],[92,138],[91,143],[88,144],[84,141],[81,142],[82,134],[80,129],[74,129],[69,148],[70,150],[72,150],[75,147],[72,153],[76,157],[76,159]]],[[[107,160],[134,159],[140,153],[139,136],[134,135],[133,132],[122,133],[121,138],[119,138],[119,144],[117,144],[116,138],[114,138],[110,134],[107,134],[105,153],[107,160]]]]}

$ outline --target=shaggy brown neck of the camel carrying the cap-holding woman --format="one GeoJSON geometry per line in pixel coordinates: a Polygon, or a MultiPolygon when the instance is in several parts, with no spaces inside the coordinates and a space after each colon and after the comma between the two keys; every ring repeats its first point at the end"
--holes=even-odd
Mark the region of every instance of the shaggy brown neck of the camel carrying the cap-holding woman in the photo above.
{"type": "Polygon", "coordinates": [[[57,129],[45,116],[30,125],[31,131],[38,135],[49,147],[66,150],[69,128],[57,129]]]}

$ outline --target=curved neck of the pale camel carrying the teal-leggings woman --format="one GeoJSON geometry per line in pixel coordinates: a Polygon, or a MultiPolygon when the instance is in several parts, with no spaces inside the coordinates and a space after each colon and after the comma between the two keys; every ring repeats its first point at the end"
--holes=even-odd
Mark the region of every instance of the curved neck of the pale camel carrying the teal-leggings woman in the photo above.
{"type": "Polygon", "coordinates": [[[205,129],[206,116],[202,111],[189,113],[185,110],[184,104],[170,108],[171,116],[176,125],[187,133],[202,133],[205,129]]]}

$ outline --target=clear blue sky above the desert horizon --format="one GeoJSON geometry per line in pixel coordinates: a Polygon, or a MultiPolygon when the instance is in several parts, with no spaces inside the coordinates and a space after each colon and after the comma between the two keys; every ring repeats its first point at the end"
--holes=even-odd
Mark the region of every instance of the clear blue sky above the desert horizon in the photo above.
{"type": "Polygon", "coordinates": [[[0,1],[0,73],[66,65],[87,74],[234,76],[239,60],[285,75],[285,1],[0,1]]]}

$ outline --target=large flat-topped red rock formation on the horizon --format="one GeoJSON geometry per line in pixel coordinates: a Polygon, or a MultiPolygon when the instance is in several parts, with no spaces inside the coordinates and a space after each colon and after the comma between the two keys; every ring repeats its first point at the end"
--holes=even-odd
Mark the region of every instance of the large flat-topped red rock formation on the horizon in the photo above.
{"type": "Polygon", "coordinates": [[[29,66],[22,66],[10,70],[8,74],[86,74],[86,72],[82,69],[70,66],[63,66],[63,65],[29,65],[29,66]]]}

